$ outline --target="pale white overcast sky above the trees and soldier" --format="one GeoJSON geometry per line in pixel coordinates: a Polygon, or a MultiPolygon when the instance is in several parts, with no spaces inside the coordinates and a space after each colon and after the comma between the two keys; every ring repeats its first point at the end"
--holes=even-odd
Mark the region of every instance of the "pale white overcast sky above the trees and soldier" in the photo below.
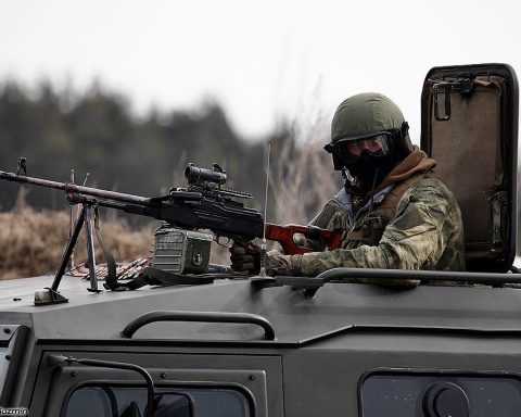
{"type": "Polygon", "coordinates": [[[509,63],[521,76],[518,1],[0,0],[0,81],[89,86],[143,113],[217,99],[259,137],[280,117],[328,121],[346,97],[387,94],[418,141],[432,66],[509,63]]]}

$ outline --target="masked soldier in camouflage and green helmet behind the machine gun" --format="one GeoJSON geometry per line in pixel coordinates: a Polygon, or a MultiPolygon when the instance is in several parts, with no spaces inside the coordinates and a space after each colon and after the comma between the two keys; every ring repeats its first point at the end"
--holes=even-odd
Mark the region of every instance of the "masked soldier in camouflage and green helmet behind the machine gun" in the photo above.
{"type": "MultiPolygon", "coordinates": [[[[463,270],[458,203],[433,173],[436,162],[412,146],[393,101],[361,93],[342,102],[325,149],[346,180],[310,224],[343,229],[342,249],[323,251],[320,242],[306,240],[316,252],[270,252],[268,275],[316,276],[334,267],[463,270]]],[[[258,247],[236,245],[230,252],[234,270],[258,273],[258,247]]]]}

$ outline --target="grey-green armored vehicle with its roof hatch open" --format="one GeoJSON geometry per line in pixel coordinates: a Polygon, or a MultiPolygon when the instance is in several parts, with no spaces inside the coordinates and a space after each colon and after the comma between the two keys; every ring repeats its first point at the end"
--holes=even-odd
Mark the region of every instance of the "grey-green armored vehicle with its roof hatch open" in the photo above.
{"type": "MultiPolygon", "coordinates": [[[[0,415],[519,416],[518,101],[504,64],[435,67],[424,80],[421,146],[460,202],[466,273],[190,274],[135,291],[3,281],[0,415]]],[[[201,265],[182,243],[194,239],[205,240],[178,239],[179,256],[201,265]]]]}

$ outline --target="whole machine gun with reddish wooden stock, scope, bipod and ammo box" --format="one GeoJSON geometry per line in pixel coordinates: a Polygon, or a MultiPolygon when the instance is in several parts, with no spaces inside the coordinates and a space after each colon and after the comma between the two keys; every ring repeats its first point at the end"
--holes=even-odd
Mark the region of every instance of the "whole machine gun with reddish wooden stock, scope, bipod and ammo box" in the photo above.
{"type": "Polygon", "coordinates": [[[58,288],[84,225],[86,225],[90,277],[88,290],[100,291],[96,274],[93,226],[96,226],[98,240],[107,261],[109,274],[105,288],[117,288],[114,258],[98,233],[99,206],[163,220],[164,224],[157,228],[155,233],[153,266],[169,273],[202,274],[206,271],[213,237],[196,231],[200,229],[209,229],[217,240],[225,237],[238,244],[262,238],[266,233],[265,237],[278,241],[287,254],[312,251],[309,248],[295,244],[293,239],[295,233],[303,233],[312,239],[322,239],[330,250],[340,248],[341,232],[339,231],[309,226],[265,224],[257,210],[245,207],[242,202],[237,200],[251,199],[252,194],[221,187],[227,181],[227,175],[217,164],[214,164],[212,169],[189,164],[185,169],[185,177],[188,187],[171,188],[166,195],[148,198],[77,186],[73,182],[29,177],[24,157],[18,159],[18,168],[15,174],[0,170],[0,179],[63,190],[71,204],[81,204],[81,211],[72,230],[54,281],[47,293],[37,295],[37,298],[41,296],[42,301],[35,301],[35,303],[48,304],[67,301],[59,294],[58,288]],[[171,269],[173,265],[175,265],[174,269],[171,269]]]}

